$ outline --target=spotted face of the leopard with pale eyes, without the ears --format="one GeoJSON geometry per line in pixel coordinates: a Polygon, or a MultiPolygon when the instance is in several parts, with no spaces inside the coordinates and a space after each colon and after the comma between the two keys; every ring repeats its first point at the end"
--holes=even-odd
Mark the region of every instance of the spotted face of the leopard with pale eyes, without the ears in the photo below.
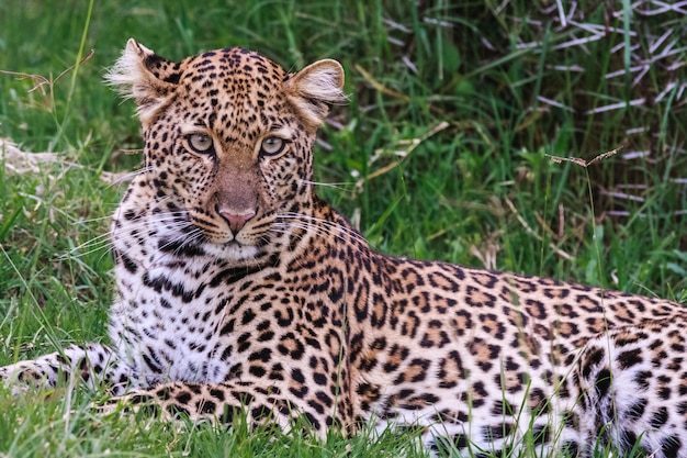
{"type": "Polygon", "coordinates": [[[279,213],[306,211],[314,131],[282,90],[284,71],[243,49],[184,60],[176,97],[146,130],[157,188],[198,234],[237,258],[274,233],[279,213]]]}

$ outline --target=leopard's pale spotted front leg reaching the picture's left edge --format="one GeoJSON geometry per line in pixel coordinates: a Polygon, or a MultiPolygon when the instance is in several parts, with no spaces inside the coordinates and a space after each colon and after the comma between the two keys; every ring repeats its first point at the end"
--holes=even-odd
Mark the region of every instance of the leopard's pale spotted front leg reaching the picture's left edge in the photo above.
{"type": "Polygon", "coordinates": [[[95,388],[106,383],[114,393],[128,384],[110,347],[101,344],[71,345],[61,351],[0,367],[0,380],[12,388],[53,388],[59,382],[83,381],[95,388]]]}

